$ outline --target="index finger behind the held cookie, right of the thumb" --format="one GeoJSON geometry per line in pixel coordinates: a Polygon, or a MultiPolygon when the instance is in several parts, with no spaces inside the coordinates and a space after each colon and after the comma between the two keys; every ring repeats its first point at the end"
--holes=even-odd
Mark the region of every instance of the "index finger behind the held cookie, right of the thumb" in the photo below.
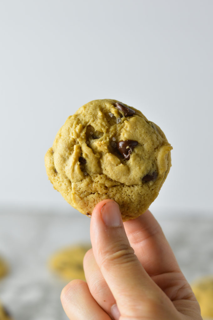
{"type": "Polygon", "coordinates": [[[138,260],[150,276],[180,271],[162,228],[149,210],[124,222],[124,228],[138,260]]]}

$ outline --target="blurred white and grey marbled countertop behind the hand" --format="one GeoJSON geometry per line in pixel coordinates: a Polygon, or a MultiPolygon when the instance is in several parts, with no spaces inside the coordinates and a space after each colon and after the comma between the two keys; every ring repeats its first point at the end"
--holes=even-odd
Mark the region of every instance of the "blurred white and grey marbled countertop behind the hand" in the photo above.
{"type": "MultiPolygon", "coordinates": [[[[213,274],[213,218],[161,217],[160,225],[189,282],[213,274]]],[[[66,283],[47,268],[55,251],[90,242],[84,215],[1,210],[0,255],[10,272],[0,279],[0,300],[15,320],[66,320],[60,302],[66,283]]]]}

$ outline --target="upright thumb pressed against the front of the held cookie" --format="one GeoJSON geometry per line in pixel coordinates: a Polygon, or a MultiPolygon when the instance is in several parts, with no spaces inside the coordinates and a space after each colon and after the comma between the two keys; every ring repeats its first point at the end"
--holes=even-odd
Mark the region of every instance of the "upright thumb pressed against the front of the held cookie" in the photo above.
{"type": "MultiPolygon", "coordinates": [[[[91,217],[91,242],[95,260],[122,316],[136,316],[138,306],[160,295],[129,244],[119,205],[103,200],[91,217]]],[[[139,310],[138,310],[139,311],[139,310]]],[[[140,314],[141,314],[140,309],[140,314]]]]}

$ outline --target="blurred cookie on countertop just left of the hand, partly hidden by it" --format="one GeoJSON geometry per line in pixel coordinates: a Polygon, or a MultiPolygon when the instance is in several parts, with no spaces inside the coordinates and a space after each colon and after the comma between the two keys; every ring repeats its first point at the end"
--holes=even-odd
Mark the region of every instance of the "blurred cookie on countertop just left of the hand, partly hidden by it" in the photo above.
{"type": "Polygon", "coordinates": [[[53,254],[48,265],[52,272],[66,281],[85,280],[83,259],[90,246],[78,245],[61,249],[53,254]]]}

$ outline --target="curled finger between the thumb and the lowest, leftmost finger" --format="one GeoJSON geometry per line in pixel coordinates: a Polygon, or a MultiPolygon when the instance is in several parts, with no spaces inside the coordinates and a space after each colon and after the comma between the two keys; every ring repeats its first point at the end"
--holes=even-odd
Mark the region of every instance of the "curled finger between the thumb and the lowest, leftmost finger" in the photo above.
{"type": "Polygon", "coordinates": [[[92,249],[84,257],[84,273],[93,298],[114,320],[119,319],[115,298],[95,261],[92,249]]]}

